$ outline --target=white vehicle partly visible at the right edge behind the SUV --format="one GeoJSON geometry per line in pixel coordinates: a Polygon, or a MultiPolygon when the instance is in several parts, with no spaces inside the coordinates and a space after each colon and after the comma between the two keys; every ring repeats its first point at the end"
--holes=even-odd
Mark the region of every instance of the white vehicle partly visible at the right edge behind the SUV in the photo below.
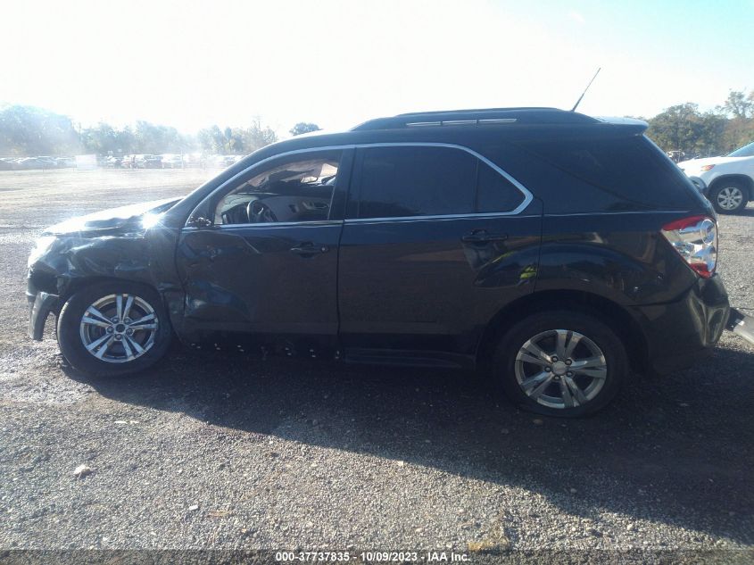
{"type": "Polygon", "coordinates": [[[724,157],[692,159],[679,162],[688,175],[715,206],[724,214],[742,212],[754,200],[754,142],[724,157]]]}

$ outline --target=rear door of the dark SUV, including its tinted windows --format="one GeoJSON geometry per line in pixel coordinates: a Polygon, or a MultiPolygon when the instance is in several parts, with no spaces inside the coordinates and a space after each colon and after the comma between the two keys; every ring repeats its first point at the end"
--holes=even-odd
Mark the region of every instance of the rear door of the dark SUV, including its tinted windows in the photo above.
{"type": "Polygon", "coordinates": [[[485,324],[534,290],[541,205],[457,145],[357,149],[340,245],[346,350],[471,355],[485,324]]]}

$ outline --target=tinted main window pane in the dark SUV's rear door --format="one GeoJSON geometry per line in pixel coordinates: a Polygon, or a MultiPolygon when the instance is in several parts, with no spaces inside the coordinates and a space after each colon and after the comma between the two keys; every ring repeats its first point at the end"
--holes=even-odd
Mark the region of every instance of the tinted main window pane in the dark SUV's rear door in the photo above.
{"type": "Polygon", "coordinates": [[[361,164],[360,218],[474,211],[476,157],[451,147],[374,147],[361,164]]]}

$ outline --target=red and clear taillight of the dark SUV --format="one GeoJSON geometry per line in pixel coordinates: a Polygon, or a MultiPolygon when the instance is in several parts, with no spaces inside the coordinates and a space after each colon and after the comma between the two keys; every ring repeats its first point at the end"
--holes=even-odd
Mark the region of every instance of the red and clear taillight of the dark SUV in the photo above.
{"type": "Polygon", "coordinates": [[[662,227],[675,251],[701,277],[709,278],[717,267],[717,224],[707,216],[671,221],[662,227]]]}

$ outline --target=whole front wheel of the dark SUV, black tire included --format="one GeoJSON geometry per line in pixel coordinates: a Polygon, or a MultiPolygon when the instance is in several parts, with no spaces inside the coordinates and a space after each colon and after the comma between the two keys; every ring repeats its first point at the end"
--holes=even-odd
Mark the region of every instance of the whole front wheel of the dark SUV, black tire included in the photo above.
{"type": "Polygon", "coordinates": [[[128,281],[82,288],[63,305],[57,320],[63,356],[74,369],[95,377],[145,370],[162,358],[170,337],[170,320],[160,295],[128,281]],[[112,318],[117,317],[119,296],[124,315],[116,323],[112,318]]]}

